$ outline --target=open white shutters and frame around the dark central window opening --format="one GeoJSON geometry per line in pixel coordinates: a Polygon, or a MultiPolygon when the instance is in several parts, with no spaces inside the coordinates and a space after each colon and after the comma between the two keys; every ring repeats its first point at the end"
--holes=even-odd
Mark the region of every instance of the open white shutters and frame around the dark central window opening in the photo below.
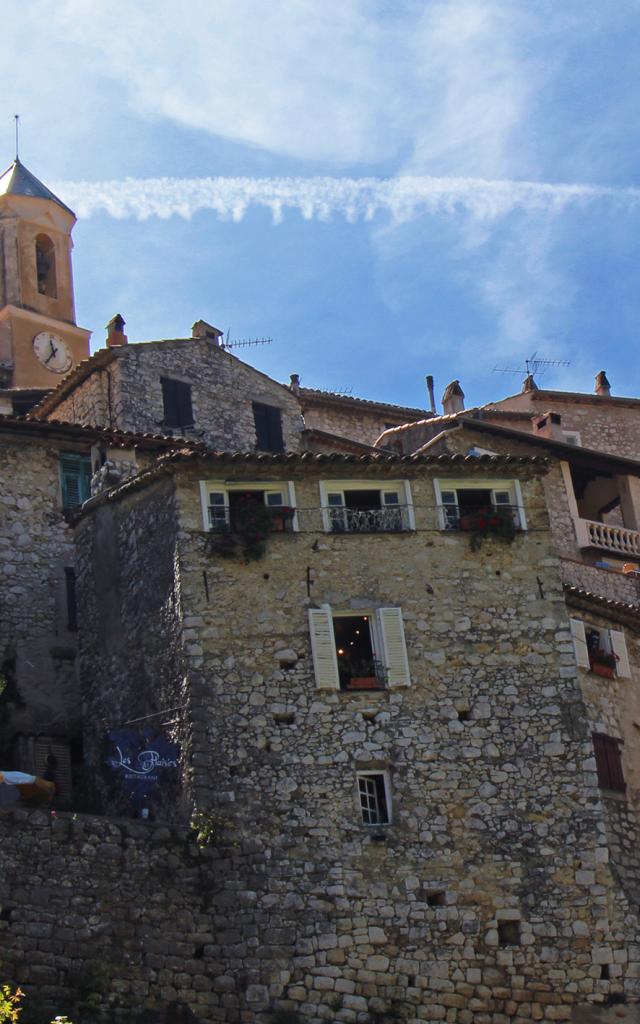
{"type": "Polygon", "coordinates": [[[324,604],[321,608],[309,608],[308,615],[311,655],[318,689],[340,689],[333,620],[364,615],[369,617],[374,657],[384,669],[387,688],[411,685],[401,608],[342,609],[324,604]]]}

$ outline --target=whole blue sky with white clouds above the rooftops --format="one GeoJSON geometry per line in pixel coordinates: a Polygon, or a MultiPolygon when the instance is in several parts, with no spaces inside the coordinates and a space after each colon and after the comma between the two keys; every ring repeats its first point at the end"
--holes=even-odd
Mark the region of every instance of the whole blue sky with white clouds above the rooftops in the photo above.
{"type": "Polygon", "coordinates": [[[0,162],[18,112],[94,347],[204,318],[381,400],[513,393],[535,351],[640,395],[640,0],[13,6],[0,162]]]}

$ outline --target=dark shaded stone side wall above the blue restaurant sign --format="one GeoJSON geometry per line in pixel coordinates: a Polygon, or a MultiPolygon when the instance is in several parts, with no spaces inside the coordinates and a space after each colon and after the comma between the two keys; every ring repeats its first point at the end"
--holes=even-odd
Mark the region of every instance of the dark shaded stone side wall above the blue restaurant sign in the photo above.
{"type": "MultiPolygon", "coordinates": [[[[76,527],[85,772],[95,782],[95,806],[111,813],[130,812],[131,804],[103,770],[108,732],[131,723],[138,730],[157,726],[186,757],[188,623],[181,620],[175,571],[173,481],[161,478],[142,494],[143,502],[133,487],[118,504],[99,504],[76,527]]],[[[148,803],[164,818],[185,814],[178,780],[159,786],[148,803]]]]}

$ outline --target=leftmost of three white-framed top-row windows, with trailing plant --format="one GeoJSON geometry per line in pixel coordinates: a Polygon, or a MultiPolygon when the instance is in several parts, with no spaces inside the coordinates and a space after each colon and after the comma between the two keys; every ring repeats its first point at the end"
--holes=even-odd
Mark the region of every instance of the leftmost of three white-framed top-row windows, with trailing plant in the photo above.
{"type": "Polygon", "coordinates": [[[274,532],[296,530],[296,496],[288,482],[207,481],[200,484],[203,521],[206,530],[233,531],[234,523],[248,504],[265,506],[271,513],[274,532]]]}

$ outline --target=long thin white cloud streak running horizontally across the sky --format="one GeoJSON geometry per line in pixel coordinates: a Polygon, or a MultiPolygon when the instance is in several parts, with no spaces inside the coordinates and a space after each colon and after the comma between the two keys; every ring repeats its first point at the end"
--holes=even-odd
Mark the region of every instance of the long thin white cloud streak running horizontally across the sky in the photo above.
{"type": "Polygon", "coordinates": [[[640,188],[427,176],[125,178],[63,181],[54,189],[79,217],[105,212],[137,220],[189,218],[201,210],[212,210],[221,219],[240,221],[250,207],[263,207],[271,212],[274,223],[288,210],[305,220],[327,220],[336,214],[355,222],[385,215],[402,223],[423,214],[467,213],[490,221],[515,211],[553,213],[592,203],[640,204],[640,188]]]}

